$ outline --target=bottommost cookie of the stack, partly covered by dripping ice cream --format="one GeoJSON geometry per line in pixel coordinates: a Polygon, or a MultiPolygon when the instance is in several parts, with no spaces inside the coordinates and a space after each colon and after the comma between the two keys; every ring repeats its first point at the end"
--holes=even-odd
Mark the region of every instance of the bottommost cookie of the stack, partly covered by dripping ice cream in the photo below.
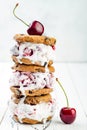
{"type": "MultiPolygon", "coordinates": [[[[17,115],[14,115],[14,116],[13,116],[13,119],[14,119],[16,122],[19,122],[19,123],[32,124],[32,125],[34,125],[34,124],[39,124],[39,123],[43,123],[43,122],[44,122],[44,120],[38,121],[38,120],[29,119],[29,118],[23,118],[23,119],[22,119],[22,122],[20,122],[20,120],[18,119],[18,116],[17,116],[17,115]]],[[[49,121],[49,120],[51,120],[51,119],[52,119],[52,116],[49,116],[46,121],[49,121]]]]}

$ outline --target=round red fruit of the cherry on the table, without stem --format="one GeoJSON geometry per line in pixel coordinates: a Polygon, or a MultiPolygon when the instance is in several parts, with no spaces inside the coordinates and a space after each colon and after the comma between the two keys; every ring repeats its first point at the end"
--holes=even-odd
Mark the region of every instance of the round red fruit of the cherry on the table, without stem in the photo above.
{"type": "Polygon", "coordinates": [[[75,108],[64,107],[60,111],[60,118],[65,124],[71,124],[76,118],[75,108]]]}

